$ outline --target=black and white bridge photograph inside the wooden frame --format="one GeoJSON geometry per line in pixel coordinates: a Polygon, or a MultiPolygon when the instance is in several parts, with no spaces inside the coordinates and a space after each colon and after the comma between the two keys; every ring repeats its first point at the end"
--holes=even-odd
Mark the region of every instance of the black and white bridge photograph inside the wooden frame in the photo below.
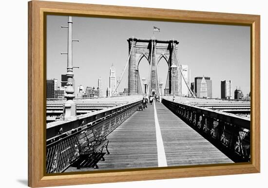
{"type": "Polygon", "coordinates": [[[45,19],[46,173],[250,162],[250,26],[45,19]]]}

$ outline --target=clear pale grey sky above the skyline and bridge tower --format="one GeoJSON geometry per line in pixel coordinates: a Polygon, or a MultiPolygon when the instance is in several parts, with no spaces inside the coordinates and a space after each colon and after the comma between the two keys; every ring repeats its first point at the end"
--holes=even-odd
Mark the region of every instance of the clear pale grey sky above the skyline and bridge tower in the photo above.
{"type": "MultiPolygon", "coordinates": [[[[47,16],[47,79],[66,74],[67,16],[47,16]]],[[[112,63],[119,77],[128,58],[128,38],[151,38],[153,26],[160,28],[156,39],[179,41],[180,64],[191,69],[191,82],[196,76],[210,76],[212,97],[220,98],[221,80],[231,80],[233,92],[240,86],[244,95],[250,91],[250,27],[199,23],[146,21],[132,19],[104,19],[73,17],[73,66],[76,86],[97,87],[102,77],[103,91],[109,86],[112,63]]],[[[162,63],[163,62],[163,63],[162,63]]],[[[168,66],[159,62],[159,77],[166,82],[168,66]]],[[[139,65],[140,78],[148,77],[149,64],[139,65]]],[[[127,87],[127,71],[117,91],[127,87]]],[[[76,88],[77,90],[77,88],[76,88]]]]}

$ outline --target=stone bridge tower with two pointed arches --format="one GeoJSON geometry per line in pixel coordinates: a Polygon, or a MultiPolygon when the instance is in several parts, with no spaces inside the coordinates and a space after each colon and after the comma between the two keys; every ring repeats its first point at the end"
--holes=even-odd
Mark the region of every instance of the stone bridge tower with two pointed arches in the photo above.
{"type": "MultiPolygon", "coordinates": [[[[157,65],[161,58],[164,58],[169,66],[166,88],[169,94],[173,94],[175,88],[175,95],[181,94],[181,73],[179,68],[176,75],[173,77],[171,73],[171,65],[174,63],[177,67],[175,51],[179,42],[177,40],[158,40],[158,39],[142,39],[142,38],[129,38],[129,53],[131,52],[129,60],[128,72],[128,94],[142,94],[140,84],[140,76],[138,65],[142,58],[146,58],[150,64],[148,91],[149,94],[157,94],[159,96],[158,71],[157,65]],[[131,51],[133,43],[133,49],[131,51]],[[152,65],[151,65],[152,64],[152,65]],[[173,80],[175,79],[175,80],[173,80]],[[175,87],[173,86],[175,83],[175,87]]],[[[164,95],[164,94],[162,94],[164,95]]]]}

